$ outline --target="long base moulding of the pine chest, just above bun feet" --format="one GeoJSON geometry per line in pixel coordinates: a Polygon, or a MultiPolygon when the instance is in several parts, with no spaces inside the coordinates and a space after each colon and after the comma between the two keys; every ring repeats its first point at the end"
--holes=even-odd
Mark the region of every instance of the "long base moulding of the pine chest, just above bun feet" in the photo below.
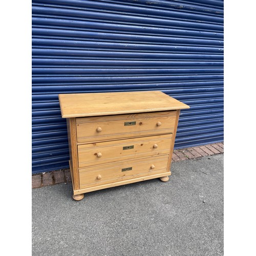
{"type": "Polygon", "coordinates": [[[126,185],[126,184],[130,184],[130,183],[140,182],[140,181],[143,181],[143,180],[156,179],[156,178],[160,178],[160,177],[163,177],[163,176],[166,176],[166,175],[170,175],[170,172],[164,172],[164,173],[160,173],[160,174],[154,174],[154,175],[151,175],[151,176],[143,176],[143,177],[140,177],[140,178],[132,178],[132,179],[129,179],[129,180],[123,180],[123,181],[108,183],[108,184],[104,184],[104,185],[78,189],[78,190],[74,190],[74,195],[79,195],[79,194],[82,194],[82,193],[88,193],[88,192],[91,192],[91,191],[96,191],[96,190],[105,189],[105,188],[109,188],[109,187],[116,187],[116,186],[126,185]]]}

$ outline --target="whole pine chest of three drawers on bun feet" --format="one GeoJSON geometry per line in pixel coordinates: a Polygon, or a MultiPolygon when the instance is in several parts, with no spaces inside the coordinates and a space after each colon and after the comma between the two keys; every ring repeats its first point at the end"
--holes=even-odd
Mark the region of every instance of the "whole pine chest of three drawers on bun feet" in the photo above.
{"type": "Polygon", "coordinates": [[[59,94],[67,118],[73,198],[143,180],[169,179],[181,109],[160,91],[59,94]]]}

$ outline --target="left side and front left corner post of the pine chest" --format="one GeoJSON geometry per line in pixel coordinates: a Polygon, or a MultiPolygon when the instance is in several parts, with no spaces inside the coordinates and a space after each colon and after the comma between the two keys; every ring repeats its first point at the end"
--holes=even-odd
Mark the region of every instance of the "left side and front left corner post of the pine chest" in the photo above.
{"type": "Polygon", "coordinates": [[[76,145],[76,120],[75,118],[67,119],[68,140],[70,152],[70,172],[74,189],[79,189],[79,175],[78,175],[78,154],[76,145]]]}

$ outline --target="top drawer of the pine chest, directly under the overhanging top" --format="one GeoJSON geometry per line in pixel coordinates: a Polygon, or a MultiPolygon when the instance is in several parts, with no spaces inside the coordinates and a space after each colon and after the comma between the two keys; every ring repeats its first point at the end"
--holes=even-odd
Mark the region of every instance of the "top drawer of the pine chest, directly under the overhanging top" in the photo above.
{"type": "Polygon", "coordinates": [[[176,111],[76,118],[77,143],[173,133],[176,111]]]}

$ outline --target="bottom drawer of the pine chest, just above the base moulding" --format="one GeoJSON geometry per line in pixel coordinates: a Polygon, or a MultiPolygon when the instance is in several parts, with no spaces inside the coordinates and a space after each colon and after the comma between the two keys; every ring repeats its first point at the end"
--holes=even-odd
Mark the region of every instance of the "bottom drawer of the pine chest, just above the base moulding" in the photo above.
{"type": "Polygon", "coordinates": [[[168,155],[123,161],[118,164],[106,164],[87,168],[87,172],[79,170],[80,189],[103,185],[127,179],[165,173],[168,155]]]}

